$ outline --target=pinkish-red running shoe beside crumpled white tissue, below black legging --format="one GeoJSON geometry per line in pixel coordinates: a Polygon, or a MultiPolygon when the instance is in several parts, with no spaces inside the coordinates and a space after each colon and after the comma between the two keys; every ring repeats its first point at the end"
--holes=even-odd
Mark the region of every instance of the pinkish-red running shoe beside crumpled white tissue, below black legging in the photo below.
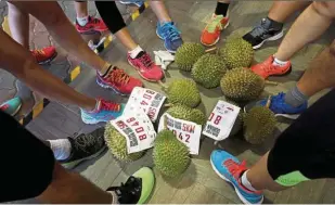
{"type": "Polygon", "coordinates": [[[131,59],[128,53],[128,63],[134,67],[139,75],[147,81],[158,81],[163,78],[163,71],[157,66],[145,51],[141,51],[137,57],[131,59]]]}

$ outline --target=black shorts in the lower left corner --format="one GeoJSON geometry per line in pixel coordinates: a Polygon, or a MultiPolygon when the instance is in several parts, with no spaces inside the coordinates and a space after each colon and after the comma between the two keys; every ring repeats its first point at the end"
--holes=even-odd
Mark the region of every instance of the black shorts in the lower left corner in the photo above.
{"type": "Polygon", "coordinates": [[[0,203],[40,195],[51,183],[55,159],[50,148],[0,111],[0,203]]]}

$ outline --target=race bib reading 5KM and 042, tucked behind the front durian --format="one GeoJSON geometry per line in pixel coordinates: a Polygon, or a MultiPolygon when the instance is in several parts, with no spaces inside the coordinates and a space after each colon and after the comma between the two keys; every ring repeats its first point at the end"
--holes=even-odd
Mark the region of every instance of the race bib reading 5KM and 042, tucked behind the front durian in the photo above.
{"type": "Polygon", "coordinates": [[[190,154],[198,154],[202,136],[201,125],[193,121],[177,119],[167,113],[159,119],[158,132],[165,128],[165,125],[168,130],[175,133],[180,142],[184,143],[190,149],[190,154]]]}

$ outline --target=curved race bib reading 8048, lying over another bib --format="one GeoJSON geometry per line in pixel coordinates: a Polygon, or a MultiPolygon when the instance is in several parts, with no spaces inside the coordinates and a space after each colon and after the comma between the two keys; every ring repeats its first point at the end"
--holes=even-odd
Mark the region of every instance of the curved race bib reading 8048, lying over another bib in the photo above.
{"type": "Polygon", "coordinates": [[[111,124],[126,138],[128,154],[153,148],[156,131],[142,110],[124,114],[111,124]]]}

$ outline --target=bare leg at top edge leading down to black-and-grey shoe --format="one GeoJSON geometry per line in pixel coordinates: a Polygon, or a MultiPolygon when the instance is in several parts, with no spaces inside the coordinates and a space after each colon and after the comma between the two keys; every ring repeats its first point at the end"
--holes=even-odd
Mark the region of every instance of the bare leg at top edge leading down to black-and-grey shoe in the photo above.
{"type": "Polygon", "coordinates": [[[269,11],[268,17],[279,22],[285,23],[287,18],[296,11],[307,7],[310,1],[273,1],[269,11]]]}

